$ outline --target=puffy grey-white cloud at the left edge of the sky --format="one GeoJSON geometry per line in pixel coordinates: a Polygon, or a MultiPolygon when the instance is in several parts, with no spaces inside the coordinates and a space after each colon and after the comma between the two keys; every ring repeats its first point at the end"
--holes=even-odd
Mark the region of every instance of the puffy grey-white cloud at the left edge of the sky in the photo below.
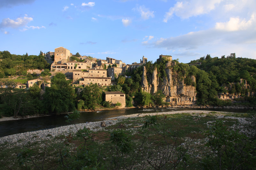
{"type": "Polygon", "coordinates": [[[23,17],[23,18],[17,18],[15,20],[12,20],[10,18],[4,18],[2,20],[2,23],[0,24],[0,27],[1,28],[5,28],[5,27],[18,28],[18,27],[27,25],[30,21],[33,21],[33,18],[23,17]]]}

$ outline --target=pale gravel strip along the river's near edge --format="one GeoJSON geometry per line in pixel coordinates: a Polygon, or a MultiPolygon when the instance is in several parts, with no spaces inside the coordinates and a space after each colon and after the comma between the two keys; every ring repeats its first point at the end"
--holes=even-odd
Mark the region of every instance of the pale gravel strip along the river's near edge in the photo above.
{"type": "MultiPolygon", "coordinates": [[[[209,112],[212,112],[212,111],[186,110],[186,111],[172,111],[172,112],[160,112],[160,113],[149,113],[149,114],[133,114],[133,115],[124,115],[124,116],[108,118],[105,120],[105,122],[106,122],[106,126],[108,126],[108,125],[110,125],[110,123],[111,123],[111,125],[117,124],[122,119],[133,118],[133,117],[143,117],[146,115],[169,115],[169,114],[178,114],[178,113],[208,114],[209,112]]],[[[221,113],[227,113],[227,112],[218,112],[218,113],[221,114],[221,113]]],[[[92,131],[98,131],[98,130],[105,129],[100,126],[100,122],[80,123],[80,124],[76,124],[76,126],[74,124],[72,124],[72,125],[61,126],[61,127],[57,127],[57,128],[53,128],[53,129],[38,130],[38,131],[33,131],[33,132],[9,135],[9,136],[5,136],[5,137],[1,137],[0,144],[6,144],[6,147],[13,147],[13,145],[24,146],[25,144],[28,144],[29,142],[30,143],[36,142],[36,141],[39,142],[41,140],[46,139],[47,137],[54,138],[61,134],[68,135],[69,133],[73,133],[73,132],[75,133],[76,128],[83,129],[84,126],[86,128],[90,128],[92,131]]]]}

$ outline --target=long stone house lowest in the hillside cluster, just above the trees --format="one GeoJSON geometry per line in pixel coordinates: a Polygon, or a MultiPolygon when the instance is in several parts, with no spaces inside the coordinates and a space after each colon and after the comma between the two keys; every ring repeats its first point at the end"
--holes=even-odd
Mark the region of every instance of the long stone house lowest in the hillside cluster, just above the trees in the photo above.
{"type": "Polygon", "coordinates": [[[109,86],[111,84],[111,78],[109,77],[84,77],[83,80],[79,81],[79,85],[90,85],[95,84],[100,86],[109,86]]]}

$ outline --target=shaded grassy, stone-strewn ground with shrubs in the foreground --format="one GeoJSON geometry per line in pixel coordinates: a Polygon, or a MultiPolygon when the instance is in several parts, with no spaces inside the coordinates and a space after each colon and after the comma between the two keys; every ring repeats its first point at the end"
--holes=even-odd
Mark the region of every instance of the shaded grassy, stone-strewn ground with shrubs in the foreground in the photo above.
{"type": "Polygon", "coordinates": [[[0,169],[254,169],[256,164],[254,114],[127,118],[97,132],[41,138],[28,139],[22,148],[1,144],[0,169]]]}

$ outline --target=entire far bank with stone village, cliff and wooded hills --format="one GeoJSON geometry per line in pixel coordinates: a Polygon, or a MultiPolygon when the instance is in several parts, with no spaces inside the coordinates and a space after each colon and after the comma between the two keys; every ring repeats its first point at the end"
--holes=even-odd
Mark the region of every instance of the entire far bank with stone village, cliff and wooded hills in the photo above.
{"type": "Polygon", "coordinates": [[[73,55],[0,52],[2,115],[106,107],[254,107],[256,60],[231,53],[180,63],[171,55],[140,63],[73,55]],[[24,83],[26,82],[26,83],[24,83]],[[40,105],[40,107],[38,107],[40,105]],[[12,109],[10,109],[12,108],[12,109]]]}

